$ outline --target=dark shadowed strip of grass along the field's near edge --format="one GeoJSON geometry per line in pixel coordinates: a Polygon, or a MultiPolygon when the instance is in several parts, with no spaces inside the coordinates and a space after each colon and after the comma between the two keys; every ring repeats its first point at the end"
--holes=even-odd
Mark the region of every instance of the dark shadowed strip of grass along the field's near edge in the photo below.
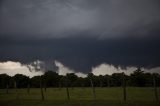
{"type": "Polygon", "coordinates": [[[151,101],[104,101],[104,100],[12,100],[1,101],[1,106],[159,106],[159,103],[151,101]]]}

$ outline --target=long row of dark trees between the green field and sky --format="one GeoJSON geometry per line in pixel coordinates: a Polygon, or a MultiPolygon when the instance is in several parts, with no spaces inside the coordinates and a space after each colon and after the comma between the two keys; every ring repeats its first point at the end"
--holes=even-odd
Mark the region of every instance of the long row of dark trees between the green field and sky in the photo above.
{"type": "Polygon", "coordinates": [[[78,77],[74,73],[68,73],[66,76],[58,75],[53,71],[47,71],[42,76],[34,76],[29,78],[22,74],[9,76],[7,74],[0,74],[0,88],[40,88],[48,87],[120,87],[123,86],[125,79],[126,86],[135,87],[151,87],[160,86],[160,74],[144,73],[140,68],[135,70],[130,75],[124,73],[114,73],[112,75],[95,76],[88,73],[86,78],[78,77]]]}

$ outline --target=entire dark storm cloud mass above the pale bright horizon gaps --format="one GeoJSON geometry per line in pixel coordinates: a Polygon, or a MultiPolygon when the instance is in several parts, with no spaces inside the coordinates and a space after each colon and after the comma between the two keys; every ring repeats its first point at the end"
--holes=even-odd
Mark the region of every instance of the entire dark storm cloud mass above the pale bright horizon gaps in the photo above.
{"type": "Polygon", "coordinates": [[[0,61],[77,72],[160,66],[159,0],[0,0],[0,61]]]}

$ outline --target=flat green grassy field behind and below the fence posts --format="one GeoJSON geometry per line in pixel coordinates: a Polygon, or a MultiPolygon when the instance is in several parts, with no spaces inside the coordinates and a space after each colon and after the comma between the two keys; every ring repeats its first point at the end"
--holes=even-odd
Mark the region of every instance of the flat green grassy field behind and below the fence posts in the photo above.
{"type": "MultiPolygon", "coordinates": [[[[123,101],[122,88],[96,88],[96,100],[91,88],[70,88],[70,100],[67,100],[66,89],[48,88],[41,100],[40,89],[0,89],[0,106],[160,106],[155,101],[153,88],[127,88],[127,101],[123,101]]],[[[160,97],[160,92],[159,92],[160,97]]]]}

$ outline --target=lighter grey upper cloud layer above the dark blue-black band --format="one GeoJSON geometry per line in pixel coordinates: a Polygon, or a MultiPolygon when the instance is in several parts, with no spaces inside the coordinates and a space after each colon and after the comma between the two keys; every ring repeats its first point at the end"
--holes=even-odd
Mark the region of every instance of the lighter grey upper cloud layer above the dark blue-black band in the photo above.
{"type": "Polygon", "coordinates": [[[0,34],[64,38],[87,31],[97,38],[121,37],[160,21],[159,5],[158,0],[3,0],[0,34]]]}

